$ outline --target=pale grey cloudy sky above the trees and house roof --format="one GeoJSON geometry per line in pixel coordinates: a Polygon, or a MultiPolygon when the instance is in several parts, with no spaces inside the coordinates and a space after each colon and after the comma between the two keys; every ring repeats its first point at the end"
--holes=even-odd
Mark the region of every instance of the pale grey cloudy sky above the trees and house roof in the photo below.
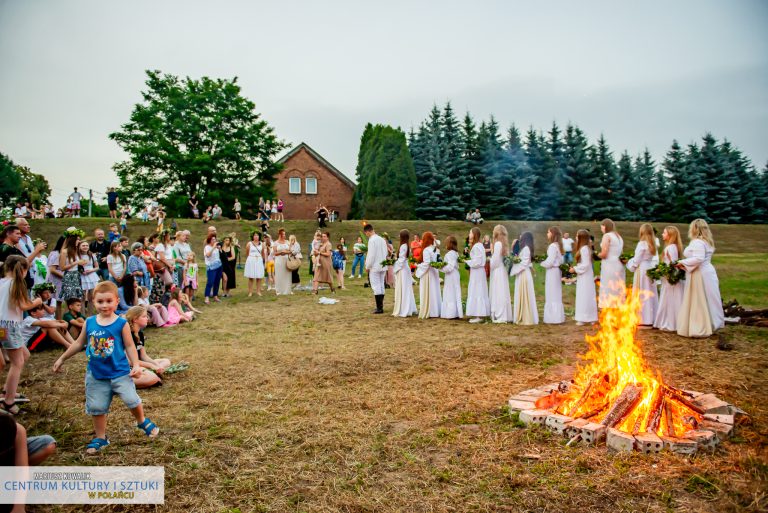
{"type": "Polygon", "coordinates": [[[0,152],[47,176],[57,206],[118,185],[107,135],[159,69],[239,77],[283,140],[351,177],[365,123],[408,129],[449,100],[657,158],[711,131],[762,168],[767,26],[761,0],[0,0],[0,152]]]}

